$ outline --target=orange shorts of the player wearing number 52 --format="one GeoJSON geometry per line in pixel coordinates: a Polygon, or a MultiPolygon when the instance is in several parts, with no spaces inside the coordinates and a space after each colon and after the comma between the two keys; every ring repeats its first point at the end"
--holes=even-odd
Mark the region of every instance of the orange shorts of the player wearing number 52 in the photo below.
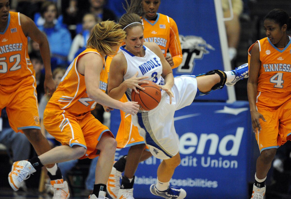
{"type": "Polygon", "coordinates": [[[10,127],[15,132],[23,129],[40,129],[36,81],[33,75],[17,84],[0,84],[0,116],[6,107],[10,127]]]}

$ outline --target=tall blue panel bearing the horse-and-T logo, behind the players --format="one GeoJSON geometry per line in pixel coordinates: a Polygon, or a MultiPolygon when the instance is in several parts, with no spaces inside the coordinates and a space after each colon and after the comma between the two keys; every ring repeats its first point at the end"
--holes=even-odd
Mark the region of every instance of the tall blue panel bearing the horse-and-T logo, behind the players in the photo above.
{"type": "MultiPolygon", "coordinates": [[[[226,61],[223,61],[221,42],[225,44],[224,50],[228,52],[228,49],[222,20],[221,1],[217,2],[220,4],[219,10],[216,10],[217,6],[215,6],[214,0],[161,1],[158,12],[173,18],[180,34],[183,62],[178,68],[173,69],[174,76],[181,74],[198,75],[214,69],[230,69],[230,65],[226,69],[226,61]],[[220,19],[217,19],[218,11],[221,12],[220,19]],[[219,21],[221,24],[218,24],[219,21]],[[219,31],[219,25],[223,31],[219,31]]],[[[228,58],[226,57],[226,59],[228,58]]],[[[229,60],[227,61],[229,62],[229,60]]],[[[227,88],[223,88],[219,93],[210,93],[199,97],[199,100],[226,101],[229,99],[229,95],[227,88]]]]}

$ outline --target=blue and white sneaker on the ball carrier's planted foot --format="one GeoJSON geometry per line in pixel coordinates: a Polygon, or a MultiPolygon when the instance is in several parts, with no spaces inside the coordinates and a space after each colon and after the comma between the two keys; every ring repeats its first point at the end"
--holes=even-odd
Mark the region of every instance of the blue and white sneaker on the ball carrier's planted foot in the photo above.
{"type": "Polygon", "coordinates": [[[150,193],[167,199],[183,199],[186,197],[186,191],[179,187],[169,187],[166,191],[159,191],[156,184],[150,186],[150,193]]]}

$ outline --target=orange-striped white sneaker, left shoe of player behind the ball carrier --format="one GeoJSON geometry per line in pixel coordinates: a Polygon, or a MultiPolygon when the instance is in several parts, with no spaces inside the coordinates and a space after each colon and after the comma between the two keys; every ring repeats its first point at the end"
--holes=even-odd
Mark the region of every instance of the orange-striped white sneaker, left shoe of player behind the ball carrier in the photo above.
{"type": "Polygon", "coordinates": [[[120,179],[122,178],[121,172],[112,167],[110,176],[107,181],[107,192],[111,198],[116,199],[120,189],[120,179]]]}

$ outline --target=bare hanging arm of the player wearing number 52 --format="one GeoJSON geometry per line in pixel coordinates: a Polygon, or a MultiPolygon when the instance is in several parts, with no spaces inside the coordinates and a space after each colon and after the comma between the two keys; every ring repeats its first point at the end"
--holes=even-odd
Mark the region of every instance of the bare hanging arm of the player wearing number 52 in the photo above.
{"type": "Polygon", "coordinates": [[[29,17],[23,14],[20,14],[20,24],[24,35],[29,36],[33,41],[39,44],[40,54],[45,66],[45,95],[52,95],[56,90],[56,83],[52,78],[51,57],[47,37],[36,27],[35,23],[29,17]]]}

